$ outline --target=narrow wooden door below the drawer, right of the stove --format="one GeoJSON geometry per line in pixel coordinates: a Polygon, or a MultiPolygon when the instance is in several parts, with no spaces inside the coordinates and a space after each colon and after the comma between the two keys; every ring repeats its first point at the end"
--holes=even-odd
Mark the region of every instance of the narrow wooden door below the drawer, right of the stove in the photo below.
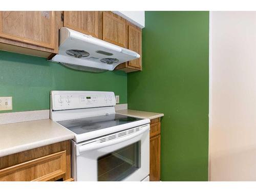
{"type": "Polygon", "coordinates": [[[150,181],[160,181],[161,136],[150,139],[150,181]]]}

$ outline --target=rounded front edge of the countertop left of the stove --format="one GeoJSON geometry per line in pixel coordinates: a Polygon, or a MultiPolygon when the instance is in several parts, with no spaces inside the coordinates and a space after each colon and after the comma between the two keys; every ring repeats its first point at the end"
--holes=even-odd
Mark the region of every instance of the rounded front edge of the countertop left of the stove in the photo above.
{"type": "Polygon", "coordinates": [[[51,138],[51,139],[46,139],[46,140],[40,140],[38,142],[32,142],[32,143],[28,143],[28,144],[24,144],[24,145],[20,145],[20,146],[16,146],[16,147],[6,148],[5,150],[0,150],[0,157],[32,150],[33,148],[46,146],[46,145],[58,143],[61,141],[67,141],[67,140],[70,140],[73,138],[74,138],[74,134],[69,134],[66,136],[61,136],[61,137],[56,137],[56,138],[51,138]]]}

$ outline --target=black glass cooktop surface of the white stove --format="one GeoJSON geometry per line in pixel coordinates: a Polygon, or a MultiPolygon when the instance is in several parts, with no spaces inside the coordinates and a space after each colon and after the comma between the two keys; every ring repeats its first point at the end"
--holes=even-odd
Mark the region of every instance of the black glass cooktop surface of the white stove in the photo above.
{"type": "Polygon", "coordinates": [[[139,120],[141,118],[110,114],[57,122],[76,134],[82,134],[139,120]]]}

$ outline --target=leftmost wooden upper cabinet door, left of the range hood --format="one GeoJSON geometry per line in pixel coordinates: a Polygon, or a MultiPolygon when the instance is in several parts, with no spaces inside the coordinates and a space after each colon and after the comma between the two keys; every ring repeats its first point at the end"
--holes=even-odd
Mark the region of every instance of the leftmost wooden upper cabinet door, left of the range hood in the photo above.
{"type": "Polygon", "coordinates": [[[0,37],[54,49],[54,11],[1,11],[0,37]]]}

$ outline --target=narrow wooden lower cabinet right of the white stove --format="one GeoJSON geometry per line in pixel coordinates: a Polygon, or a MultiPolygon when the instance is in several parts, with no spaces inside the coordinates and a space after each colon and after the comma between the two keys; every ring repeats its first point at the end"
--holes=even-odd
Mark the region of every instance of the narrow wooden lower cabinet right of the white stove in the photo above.
{"type": "Polygon", "coordinates": [[[160,118],[152,119],[150,124],[150,181],[160,181],[160,133],[160,118]]]}

